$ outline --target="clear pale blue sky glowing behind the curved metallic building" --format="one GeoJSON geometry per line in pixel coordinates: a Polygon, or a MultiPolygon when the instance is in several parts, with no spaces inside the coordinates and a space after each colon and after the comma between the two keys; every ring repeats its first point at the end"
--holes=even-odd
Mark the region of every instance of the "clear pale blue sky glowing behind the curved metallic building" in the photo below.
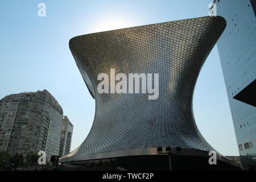
{"type": "MultiPolygon", "coordinates": [[[[206,16],[210,2],[1,1],[0,98],[47,89],[74,125],[73,150],[89,133],[95,104],[69,51],[69,39],[96,31],[206,16]],[[38,16],[40,2],[46,4],[46,17],[38,16]]],[[[238,155],[217,47],[201,70],[193,106],[205,139],[224,155],[238,155]]]]}

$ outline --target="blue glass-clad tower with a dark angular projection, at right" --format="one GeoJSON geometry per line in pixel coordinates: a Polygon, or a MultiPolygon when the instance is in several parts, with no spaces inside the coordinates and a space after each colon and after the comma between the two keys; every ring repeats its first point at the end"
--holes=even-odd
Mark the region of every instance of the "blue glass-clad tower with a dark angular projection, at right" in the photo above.
{"type": "Polygon", "coordinates": [[[218,0],[226,29],[217,42],[244,168],[256,168],[256,1],[218,0]],[[246,167],[247,166],[247,167],[246,167]]]}

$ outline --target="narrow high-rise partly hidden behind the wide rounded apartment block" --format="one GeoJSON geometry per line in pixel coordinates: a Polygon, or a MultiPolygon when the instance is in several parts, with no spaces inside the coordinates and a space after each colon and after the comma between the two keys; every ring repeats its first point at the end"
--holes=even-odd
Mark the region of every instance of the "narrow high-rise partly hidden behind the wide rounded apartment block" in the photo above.
{"type": "Polygon", "coordinates": [[[69,121],[66,115],[63,116],[61,136],[60,136],[60,154],[59,156],[65,156],[69,154],[71,149],[71,140],[73,134],[73,125],[69,121]]]}

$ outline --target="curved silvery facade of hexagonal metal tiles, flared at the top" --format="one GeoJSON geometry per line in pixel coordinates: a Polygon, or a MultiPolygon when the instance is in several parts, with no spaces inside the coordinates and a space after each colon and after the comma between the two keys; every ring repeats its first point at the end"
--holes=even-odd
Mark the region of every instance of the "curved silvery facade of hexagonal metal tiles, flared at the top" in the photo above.
{"type": "Polygon", "coordinates": [[[213,148],[197,129],[192,98],[204,61],[224,31],[216,16],[98,32],[69,42],[77,67],[96,100],[92,129],[69,160],[152,147],[213,148]],[[100,73],[159,73],[159,97],[99,94],[100,73]]]}

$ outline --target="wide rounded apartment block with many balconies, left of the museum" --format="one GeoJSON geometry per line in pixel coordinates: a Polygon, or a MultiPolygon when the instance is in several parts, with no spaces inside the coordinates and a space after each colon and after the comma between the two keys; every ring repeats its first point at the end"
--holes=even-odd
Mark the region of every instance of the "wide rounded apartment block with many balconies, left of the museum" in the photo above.
{"type": "Polygon", "coordinates": [[[10,94],[0,100],[0,151],[59,155],[63,110],[47,91],[10,94]]]}

